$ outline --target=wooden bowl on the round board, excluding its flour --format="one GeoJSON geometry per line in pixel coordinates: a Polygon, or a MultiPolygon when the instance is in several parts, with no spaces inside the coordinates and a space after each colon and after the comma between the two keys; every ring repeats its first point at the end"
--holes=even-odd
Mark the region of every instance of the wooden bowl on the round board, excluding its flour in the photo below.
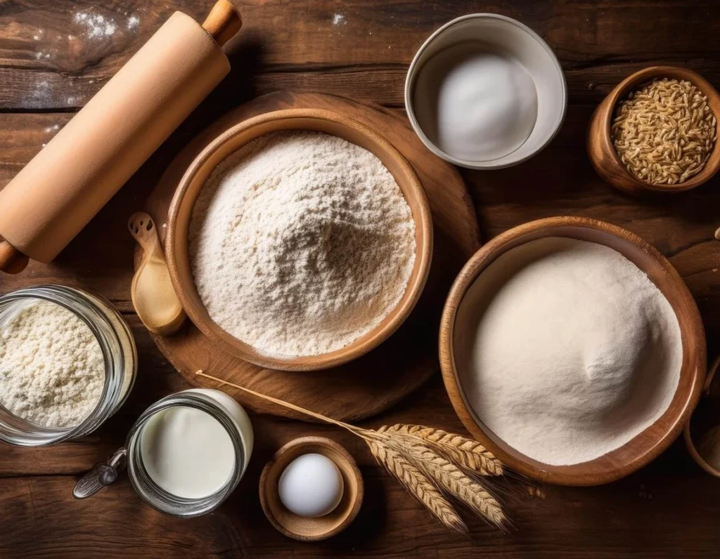
{"type": "Polygon", "coordinates": [[[433,250],[430,206],[410,163],[372,129],[353,119],[329,111],[287,109],[269,112],[228,129],[208,145],[191,163],[175,192],[168,215],[165,243],[170,277],[185,312],[212,342],[236,357],[261,367],[283,371],[315,371],[347,363],[377,347],[408,318],[425,286],[433,250]],[[348,140],[382,161],[397,181],[415,221],[415,266],[402,299],[380,324],[346,347],[309,357],[266,355],[222,330],[210,318],[200,300],[192,277],[188,250],[188,229],[192,208],[200,190],[217,165],[231,153],[257,137],[281,130],[313,130],[348,140]]]}

